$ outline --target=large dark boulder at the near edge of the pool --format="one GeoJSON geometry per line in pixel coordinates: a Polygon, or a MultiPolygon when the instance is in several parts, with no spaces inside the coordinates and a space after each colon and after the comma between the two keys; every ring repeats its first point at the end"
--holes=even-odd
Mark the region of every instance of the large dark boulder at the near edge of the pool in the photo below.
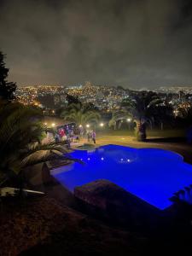
{"type": "Polygon", "coordinates": [[[121,224],[147,224],[159,210],[108,180],[96,180],[74,189],[74,195],[87,206],[95,207],[95,215],[121,224]]]}

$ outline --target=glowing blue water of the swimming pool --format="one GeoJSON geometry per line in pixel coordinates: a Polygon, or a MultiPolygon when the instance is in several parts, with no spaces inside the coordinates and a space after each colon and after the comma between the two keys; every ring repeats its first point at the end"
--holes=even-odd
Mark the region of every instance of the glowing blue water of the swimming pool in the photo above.
{"type": "Polygon", "coordinates": [[[75,150],[84,161],[55,169],[52,175],[73,191],[97,179],[108,179],[161,210],[172,205],[174,192],[192,184],[192,166],[183,157],[157,148],[106,145],[95,151],[75,150]]]}

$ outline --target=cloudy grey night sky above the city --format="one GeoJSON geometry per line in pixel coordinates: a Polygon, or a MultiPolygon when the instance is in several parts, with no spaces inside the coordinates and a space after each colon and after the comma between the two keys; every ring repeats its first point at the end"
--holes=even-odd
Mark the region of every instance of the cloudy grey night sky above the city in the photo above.
{"type": "Polygon", "coordinates": [[[0,0],[17,84],[192,85],[191,0],[0,0]]]}

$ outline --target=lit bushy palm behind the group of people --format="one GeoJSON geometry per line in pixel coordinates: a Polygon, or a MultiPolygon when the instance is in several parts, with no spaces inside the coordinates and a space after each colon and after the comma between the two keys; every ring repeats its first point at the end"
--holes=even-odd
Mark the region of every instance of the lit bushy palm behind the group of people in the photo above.
{"type": "Polygon", "coordinates": [[[74,122],[76,125],[86,125],[87,123],[97,123],[101,118],[100,113],[89,104],[70,104],[62,111],[61,118],[74,122]]]}

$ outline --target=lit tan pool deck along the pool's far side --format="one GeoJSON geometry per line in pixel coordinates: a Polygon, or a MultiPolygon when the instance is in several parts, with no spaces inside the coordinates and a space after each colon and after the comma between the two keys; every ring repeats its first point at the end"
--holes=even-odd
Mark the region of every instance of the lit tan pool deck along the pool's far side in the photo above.
{"type": "MultiPolygon", "coordinates": [[[[81,139],[80,143],[73,143],[72,148],[76,149],[84,143],[88,143],[87,139],[81,139]]],[[[105,135],[96,138],[96,147],[116,144],[131,148],[162,148],[182,154],[184,161],[192,164],[192,145],[185,143],[184,140],[174,140],[166,137],[148,137],[146,142],[137,142],[135,137],[105,135]]]]}

